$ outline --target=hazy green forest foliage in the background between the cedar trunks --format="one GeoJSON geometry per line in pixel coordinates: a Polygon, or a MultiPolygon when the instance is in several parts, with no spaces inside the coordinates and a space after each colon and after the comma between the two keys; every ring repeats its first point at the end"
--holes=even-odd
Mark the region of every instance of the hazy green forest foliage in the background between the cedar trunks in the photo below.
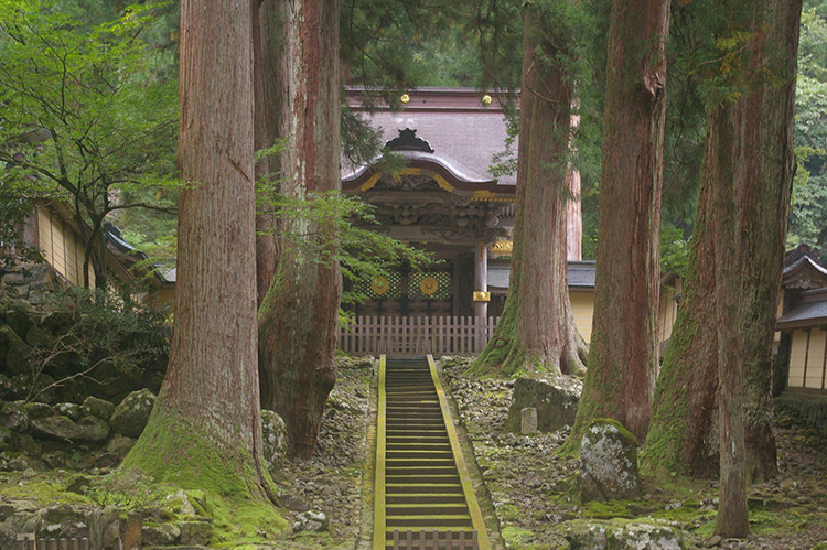
{"type": "MultiPolygon", "coordinates": [[[[593,259],[597,250],[598,197],[600,194],[600,140],[603,116],[604,43],[608,33],[608,2],[591,0],[590,10],[578,24],[591,43],[577,52],[577,71],[587,75],[579,80],[581,125],[576,137],[574,166],[582,175],[583,257],[593,259]]],[[[122,18],[128,2],[104,0],[62,0],[52,9],[65,21],[72,21],[72,32],[78,37],[101,32],[100,25],[115,24],[122,18]]],[[[376,88],[376,99],[399,106],[400,93],[419,86],[477,87],[483,90],[515,90],[519,83],[522,20],[515,2],[480,0],[462,7],[448,7],[439,0],[419,2],[416,7],[390,0],[366,2],[344,1],[341,11],[342,65],[346,85],[376,88]]],[[[78,100],[82,110],[90,116],[78,116],[69,121],[67,131],[79,132],[84,125],[100,118],[104,111],[118,110],[111,116],[110,128],[122,131],[101,138],[101,163],[115,163],[112,171],[126,173],[122,180],[112,179],[107,191],[119,190],[117,204],[96,206],[98,220],[120,226],[128,242],[150,255],[150,261],[169,263],[175,254],[175,121],[178,114],[178,41],[180,6],[178,2],[137,4],[131,25],[112,31],[108,50],[90,51],[89,63],[104,56],[117,65],[114,73],[129,74],[121,88],[112,90],[104,100],[78,100]],[[126,33],[125,33],[126,31],[126,33]],[[121,33],[121,34],[118,34],[121,33]],[[112,47],[121,42],[123,51],[112,47]],[[109,56],[108,58],[106,56],[109,56]],[[150,108],[151,106],[151,108],[150,108]],[[84,108],[84,109],[82,109],[84,108]],[[151,114],[148,116],[147,114],[151,114]],[[118,152],[120,151],[120,154],[118,152]],[[128,154],[123,154],[128,152],[128,154]],[[117,160],[116,160],[117,159],[117,160]],[[139,205],[143,207],[131,207],[139,205]]],[[[667,125],[665,138],[665,173],[663,191],[662,263],[664,272],[684,274],[688,258],[688,242],[697,207],[700,168],[705,142],[705,111],[698,82],[695,43],[698,24],[692,2],[676,2],[668,43],[669,86],[667,88],[667,125]]],[[[111,29],[116,29],[112,26],[111,29]]],[[[9,32],[9,29],[4,29],[9,32]]],[[[65,29],[64,29],[65,31],[65,29]]],[[[54,40],[56,31],[44,32],[44,42],[54,40]],[[50,34],[52,33],[52,34],[50,34]]],[[[0,41],[0,46],[2,41],[0,41]]],[[[44,60],[47,48],[41,48],[44,60]]],[[[43,63],[47,65],[47,63],[43,63]]],[[[3,65],[7,82],[28,79],[20,88],[35,91],[32,107],[47,110],[53,98],[47,96],[49,78],[54,75],[14,74],[24,67],[3,65]],[[40,78],[40,80],[39,80],[40,78]]],[[[65,83],[64,83],[65,84],[65,83]]],[[[60,87],[60,86],[58,86],[60,87]]],[[[20,93],[7,88],[0,96],[20,93]]],[[[80,90],[83,91],[83,90],[80,90]]],[[[56,93],[56,91],[55,91],[56,93]]],[[[344,95],[342,97],[345,97],[344,95]]],[[[21,105],[9,101],[7,105],[21,105]]],[[[513,111],[509,128],[516,133],[517,120],[513,111]]],[[[34,112],[36,115],[36,112],[34,112]]],[[[24,121],[32,112],[6,112],[7,121],[0,134],[18,129],[14,119],[24,121]]],[[[343,151],[355,161],[372,159],[379,142],[376,132],[358,123],[355,115],[342,106],[343,151]]],[[[796,90],[795,147],[798,159],[790,211],[787,248],[799,244],[812,246],[823,262],[827,262],[827,2],[807,0],[802,14],[798,79],[796,90]]],[[[10,165],[11,151],[0,152],[0,163],[10,165]]],[[[83,155],[83,152],[79,153],[83,155]]],[[[492,173],[516,171],[516,151],[509,143],[491,168],[492,173]]],[[[69,203],[72,192],[61,186],[60,176],[29,177],[26,185],[12,184],[9,171],[3,171],[0,190],[0,238],[13,239],[13,222],[30,212],[32,202],[46,196],[61,196],[69,203]],[[35,185],[34,182],[37,182],[35,185]],[[57,183],[57,184],[55,184],[57,183]]],[[[18,180],[19,181],[19,180],[18,180]]],[[[79,185],[78,185],[79,187],[79,185]]],[[[100,196],[100,190],[92,194],[100,196]]],[[[89,219],[89,213],[84,216],[89,219]]],[[[94,224],[92,224],[94,225],[94,224]]]]}

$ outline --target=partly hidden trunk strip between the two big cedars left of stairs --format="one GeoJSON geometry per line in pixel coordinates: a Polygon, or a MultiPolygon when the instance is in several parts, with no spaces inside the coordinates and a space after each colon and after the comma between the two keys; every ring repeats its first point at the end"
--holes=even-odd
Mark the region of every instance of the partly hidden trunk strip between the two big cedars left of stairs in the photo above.
{"type": "MultiPolygon", "coordinates": [[[[289,64],[287,43],[290,26],[286,24],[288,4],[283,0],[251,0],[253,65],[255,90],[255,147],[269,149],[287,136],[289,105],[289,64]]],[[[256,164],[256,181],[276,185],[286,164],[286,154],[262,158],[256,164]]],[[[267,187],[267,186],[266,186],[267,187]]],[[[276,274],[278,230],[270,194],[261,192],[256,213],[256,298],[257,304],[267,294],[276,274]]]]}

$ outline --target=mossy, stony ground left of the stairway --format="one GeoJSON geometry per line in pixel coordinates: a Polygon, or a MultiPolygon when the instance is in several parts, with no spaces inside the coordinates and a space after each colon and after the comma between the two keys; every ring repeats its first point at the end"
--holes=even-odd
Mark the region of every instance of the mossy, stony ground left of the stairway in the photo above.
{"type": "Polygon", "coordinates": [[[34,511],[65,504],[90,514],[94,508],[116,506],[123,513],[141,514],[144,526],[208,522],[213,528],[210,548],[351,550],[356,546],[363,515],[362,479],[372,379],[369,362],[340,362],[339,382],[325,410],[315,454],[303,463],[283,461],[271,471],[272,482],[282,496],[329,517],[330,526],[324,532],[294,530],[300,510],[245,496],[247,492],[239,485],[245,483],[244,476],[216,482],[207,474],[217,470],[203,461],[195,470],[200,476],[182,479],[172,476],[159,482],[109,467],[92,467],[103,451],[86,447],[64,452],[67,456],[76,455],[65,462],[77,467],[65,464],[50,467],[46,456],[39,453],[25,459],[29,467],[13,468],[10,463],[18,459],[14,452],[0,453],[0,525],[15,509],[34,511]],[[83,482],[79,485],[78,478],[83,482]],[[73,485],[74,490],[69,490],[73,485]],[[186,504],[178,497],[182,488],[186,504]]]}

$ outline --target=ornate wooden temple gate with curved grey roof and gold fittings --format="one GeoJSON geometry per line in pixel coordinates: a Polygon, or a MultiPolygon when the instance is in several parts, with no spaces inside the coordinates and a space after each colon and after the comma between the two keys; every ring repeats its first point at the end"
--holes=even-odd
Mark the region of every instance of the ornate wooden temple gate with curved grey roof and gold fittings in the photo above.
{"type": "MultiPolygon", "coordinates": [[[[342,165],[342,188],[376,207],[380,230],[441,260],[423,272],[399,266],[363,281],[367,301],[356,324],[342,331],[348,353],[376,349],[475,353],[493,332],[508,290],[516,174],[494,176],[506,149],[504,98],[469,88],[421,88],[401,96],[401,109],[351,107],[383,133],[405,161],[397,173],[375,162],[342,165]],[[387,347],[382,347],[387,346],[387,347]]],[[[576,120],[573,121],[577,122],[576,120]]],[[[512,150],[517,151],[516,139],[512,150]]],[[[582,261],[580,176],[569,171],[568,284],[578,330],[589,342],[594,309],[594,262],[582,261]]],[[[679,290],[665,289],[662,337],[668,339],[679,290]]]]}

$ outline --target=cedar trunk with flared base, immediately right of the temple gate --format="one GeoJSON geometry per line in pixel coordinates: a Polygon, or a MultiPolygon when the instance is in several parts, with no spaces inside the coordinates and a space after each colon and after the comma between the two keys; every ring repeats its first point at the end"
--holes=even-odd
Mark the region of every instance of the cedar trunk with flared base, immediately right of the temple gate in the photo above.
{"type": "Polygon", "coordinates": [[[541,7],[525,9],[512,278],[500,325],[476,363],[505,375],[584,368],[566,270],[572,83],[561,60],[573,36],[555,19],[541,7]]]}

